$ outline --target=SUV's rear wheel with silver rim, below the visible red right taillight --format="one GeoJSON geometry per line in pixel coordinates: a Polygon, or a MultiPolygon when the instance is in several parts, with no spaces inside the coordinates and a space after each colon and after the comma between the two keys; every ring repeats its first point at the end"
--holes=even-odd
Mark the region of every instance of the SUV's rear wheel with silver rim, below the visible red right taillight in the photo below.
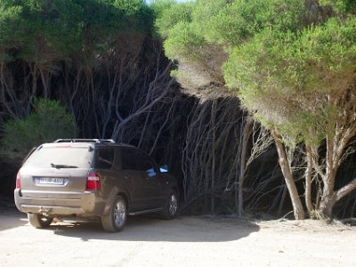
{"type": "Polygon", "coordinates": [[[117,196],[109,207],[109,214],[101,216],[102,227],[105,231],[122,231],[127,217],[125,199],[117,196]]]}

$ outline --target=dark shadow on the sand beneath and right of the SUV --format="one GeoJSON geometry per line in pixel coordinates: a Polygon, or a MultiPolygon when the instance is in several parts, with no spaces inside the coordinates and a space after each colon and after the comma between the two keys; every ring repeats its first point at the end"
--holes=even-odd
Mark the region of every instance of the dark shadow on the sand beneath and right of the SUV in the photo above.
{"type": "Polygon", "coordinates": [[[171,221],[150,216],[129,217],[125,229],[117,233],[102,230],[99,221],[64,221],[48,229],[56,235],[82,240],[224,242],[247,237],[259,231],[255,223],[226,218],[180,216],[171,221]]]}

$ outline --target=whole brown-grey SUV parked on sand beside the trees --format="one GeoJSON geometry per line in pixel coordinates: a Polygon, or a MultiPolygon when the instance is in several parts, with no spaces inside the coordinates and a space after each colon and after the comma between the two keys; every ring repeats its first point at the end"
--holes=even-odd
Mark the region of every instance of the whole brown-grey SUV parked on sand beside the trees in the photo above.
{"type": "Polygon", "coordinates": [[[177,213],[174,177],[142,150],[111,140],[45,143],[16,178],[15,203],[36,228],[54,216],[99,216],[105,231],[121,231],[127,214],[177,213]]]}

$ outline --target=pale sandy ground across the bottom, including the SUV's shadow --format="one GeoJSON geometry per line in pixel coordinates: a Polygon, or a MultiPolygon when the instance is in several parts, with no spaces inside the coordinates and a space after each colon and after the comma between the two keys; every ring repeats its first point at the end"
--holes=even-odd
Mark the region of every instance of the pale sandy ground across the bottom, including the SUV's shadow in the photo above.
{"type": "Polygon", "coordinates": [[[247,222],[130,217],[124,231],[64,221],[47,230],[0,207],[0,266],[356,266],[356,227],[315,221],[247,222]]]}

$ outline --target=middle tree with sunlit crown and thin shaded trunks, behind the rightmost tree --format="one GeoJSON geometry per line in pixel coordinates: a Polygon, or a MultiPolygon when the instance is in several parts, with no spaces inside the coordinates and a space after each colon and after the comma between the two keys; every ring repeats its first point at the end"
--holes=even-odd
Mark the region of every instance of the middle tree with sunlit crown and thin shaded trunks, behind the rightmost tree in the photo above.
{"type": "MultiPolygon", "coordinates": [[[[223,86],[222,63],[226,61],[232,45],[244,42],[255,34],[254,31],[268,27],[273,20],[276,20],[276,15],[272,11],[279,11],[278,21],[280,27],[284,28],[293,24],[297,15],[290,12],[291,8],[288,9],[283,1],[277,0],[272,1],[271,5],[263,1],[224,0],[197,1],[189,4],[158,1],[156,4],[160,4],[160,9],[155,24],[161,36],[165,38],[165,53],[169,58],[179,61],[179,69],[174,71],[174,76],[184,89],[189,89],[187,90],[189,93],[197,95],[200,105],[205,107],[197,108],[192,115],[193,122],[188,132],[189,141],[183,153],[185,198],[190,202],[209,195],[214,200],[221,197],[222,191],[232,192],[235,194],[236,211],[242,215],[247,162],[257,154],[249,155],[247,151],[247,147],[251,145],[249,138],[254,135],[252,122],[247,113],[243,113],[246,119],[240,117],[239,122],[233,120],[233,125],[237,127],[236,133],[239,133],[242,128],[245,131],[235,133],[239,136],[239,139],[236,138],[239,141],[234,140],[236,143],[231,144],[229,150],[226,149],[226,143],[232,142],[230,127],[233,126],[227,124],[226,129],[223,130],[223,114],[229,114],[231,110],[239,110],[239,101],[223,86]],[[162,8],[164,5],[166,9],[162,8]],[[266,12],[266,7],[270,8],[269,12],[266,12]],[[255,18],[258,18],[258,21],[255,18]],[[288,21],[289,24],[286,23],[287,20],[291,20],[288,21]],[[208,103],[211,103],[211,109],[206,108],[209,106],[208,103]],[[235,107],[233,107],[234,103],[236,103],[235,107]],[[222,111],[219,105],[223,105],[226,110],[222,111]],[[206,123],[201,124],[202,121],[206,123]],[[203,138],[205,135],[208,139],[203,138]],[[218,138],[215,139],[217,136],[218,138]],[[204,149],[200,151],[201,148],[204,149]],[[225,168],[228,164],[223,163],[219,157],[233,162],[233,166],[225,168]],[[218,166],[217,161],[224,166],[218,166]],[[219,173],[215,174],[217,170],[219,173]]],[[[288,1],[288,4],[299,8],[301,2],[288,1]]],[[[254,143],[252,147],[257,146],[254,143]]],[[[260,145],[259,147],[262,148],[260,145]]],[[[260,152],[265,149],[261,149],[260,152]]],[[[214,205],[211,211],[214,210],[213,207],[214,205]]]]}

